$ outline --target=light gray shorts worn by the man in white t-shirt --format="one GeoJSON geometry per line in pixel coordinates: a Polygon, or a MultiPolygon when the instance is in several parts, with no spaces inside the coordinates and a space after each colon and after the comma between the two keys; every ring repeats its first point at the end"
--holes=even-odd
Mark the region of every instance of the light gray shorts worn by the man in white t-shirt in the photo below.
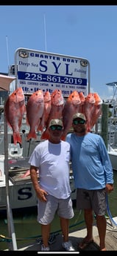
{"type": "Polygon", "coordinates": [[[65,219],[74,217],[71,197],[68,197],[67,199],[58,199],[49,194],[46,198],[46,202],[38,200],[38,222],[40,224],[48,225],[51,223],[56,211],[59,217],[65,219]]]}

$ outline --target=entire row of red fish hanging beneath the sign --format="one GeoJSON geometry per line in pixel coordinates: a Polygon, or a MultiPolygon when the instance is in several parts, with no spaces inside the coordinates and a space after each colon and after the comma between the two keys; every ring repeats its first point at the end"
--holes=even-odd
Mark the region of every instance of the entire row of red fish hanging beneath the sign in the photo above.
{"type": "Polygon", "coordinates": [[[53,118],[63,119],[63,135],[65,140],[68,130],[72,125],[72,116],[77,112],[85,114],[87,118],[87,130],[91,131],[93,125],[102,114],[102,99],[98,93],[73,91],[67,99],[64,99],[62,91],[55,89],[52,94],[49,91],[43,93],[38,90],[29,96],[25,105],[24,91],[18,88],[11,93],[4,105],[4,113],[7,124],[13,129],[13,142],[21,143],[20,129],[22,119],[26,114],[26,124],[29,125],[27,140],[37,138],[37,131],[41,131],[41,140],[49,139],[49,122],[53,118]]]}

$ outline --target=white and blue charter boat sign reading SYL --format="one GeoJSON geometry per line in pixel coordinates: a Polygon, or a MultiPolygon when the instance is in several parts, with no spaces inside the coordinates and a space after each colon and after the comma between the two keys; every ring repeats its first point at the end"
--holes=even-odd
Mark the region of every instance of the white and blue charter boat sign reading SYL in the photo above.
{"type": "Polygon", "coordinates": [[[41,89],[52,93],[60,89],[63,96],[89,88],[89,62],[87,59],[18,48],[15,51],[16,88],[24,93],[41,89]]]}

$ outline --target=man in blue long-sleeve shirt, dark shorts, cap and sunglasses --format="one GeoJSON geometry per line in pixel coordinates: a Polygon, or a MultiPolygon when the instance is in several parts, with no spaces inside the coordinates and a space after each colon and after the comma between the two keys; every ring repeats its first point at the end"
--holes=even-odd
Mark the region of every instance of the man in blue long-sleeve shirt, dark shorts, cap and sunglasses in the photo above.
{"type": "Polygon", "coordinates": [[[84,114],[73,116],[74,133],[66,140],[71,145],[71,165],[74,183],[77,188],[77,210],[84,210],[87,235],[79,244],[85,249],[93,242],[93,211],[99,232],[100,250],[106,251],[106,193],[113,191],[113,168],[107,154],[104,140],[98,134],[87,131],[87,119],[84,114]]]}

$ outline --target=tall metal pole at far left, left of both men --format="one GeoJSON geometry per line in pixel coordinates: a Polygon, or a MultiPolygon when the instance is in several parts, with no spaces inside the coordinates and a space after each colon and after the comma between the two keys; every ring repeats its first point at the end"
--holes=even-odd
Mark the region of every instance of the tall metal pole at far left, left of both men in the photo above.
{"type": "MultiPolygon", "coordinates": [[[[5,111],[4,111],[5,112],[5,111]]],[[[8,168],[8,142],[7,142],[7,121],[6,115],[4,113],[4,173],[6,181],[6,200],[7,200],[7,223],[9,237],[12,238],[12,242],[9,243],[9,249],[12,251],[17,250],[17,243],[15,238],[15,230],[13,225],[13,214],[10,207],[10,197],[9,197],[9,168],[8,168]]]]}

